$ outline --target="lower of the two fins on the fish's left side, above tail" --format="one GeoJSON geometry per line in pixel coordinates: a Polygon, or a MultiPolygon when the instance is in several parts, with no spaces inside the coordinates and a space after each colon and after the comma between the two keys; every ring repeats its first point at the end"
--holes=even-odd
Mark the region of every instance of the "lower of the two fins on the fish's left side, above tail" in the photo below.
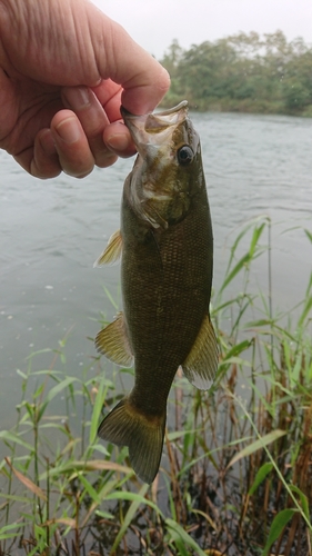
{"type": "Polygon", "coordinates": [[[112,363],[121,367],[132,367],[134,358],[122,312],[118,314],[113,322],[99,331],[94,344],[98,351],[107,356],[112,363]]]}

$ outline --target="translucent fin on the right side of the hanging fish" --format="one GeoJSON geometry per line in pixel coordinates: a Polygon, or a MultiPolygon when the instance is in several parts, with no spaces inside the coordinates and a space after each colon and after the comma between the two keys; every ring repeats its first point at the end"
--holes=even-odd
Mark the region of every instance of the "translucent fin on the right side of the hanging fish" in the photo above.
{"type": "Polygon", "coordinates": [[[203,319],[195,342],[182,364],[190,383],[200,390],[208,390],[218,369],[219,348],[209,315],[203,319]]]}

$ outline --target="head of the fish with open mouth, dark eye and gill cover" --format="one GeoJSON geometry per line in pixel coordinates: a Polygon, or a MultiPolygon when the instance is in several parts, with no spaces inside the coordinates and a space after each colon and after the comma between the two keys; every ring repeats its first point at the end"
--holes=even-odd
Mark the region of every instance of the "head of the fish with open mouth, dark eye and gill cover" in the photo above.
{"type": "Polygon", "coordinates": [[[157,113],[133,116],[121,107],[138,150],[128,180],[133,210],[154,228],[167,229],[188,214],[204,186],[200,139],[188,117],[188,102],[157,113]]]}

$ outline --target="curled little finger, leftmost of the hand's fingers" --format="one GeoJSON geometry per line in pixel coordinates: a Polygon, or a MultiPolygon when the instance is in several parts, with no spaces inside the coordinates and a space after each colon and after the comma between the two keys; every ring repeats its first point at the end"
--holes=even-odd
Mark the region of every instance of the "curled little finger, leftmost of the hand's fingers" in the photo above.
{"type": "Polygon", "coordinates": [[[50,129],[41,129],[34,139],[30,173],[37,178],[54,178],[61,173],[58,151],[50,129]]]}

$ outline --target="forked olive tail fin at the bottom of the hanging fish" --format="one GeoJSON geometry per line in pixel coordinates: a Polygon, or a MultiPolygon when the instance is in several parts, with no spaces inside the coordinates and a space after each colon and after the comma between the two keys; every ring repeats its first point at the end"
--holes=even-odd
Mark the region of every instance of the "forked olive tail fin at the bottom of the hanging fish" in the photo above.
{"type": "Polygon", "coordinates": [[[129,447],[131,466],[138,477],[151,484],[159,470],[165,427],[165,413],[145,416],[123,398],[107,415],[98,434],[103,440],[129,447]]]}

